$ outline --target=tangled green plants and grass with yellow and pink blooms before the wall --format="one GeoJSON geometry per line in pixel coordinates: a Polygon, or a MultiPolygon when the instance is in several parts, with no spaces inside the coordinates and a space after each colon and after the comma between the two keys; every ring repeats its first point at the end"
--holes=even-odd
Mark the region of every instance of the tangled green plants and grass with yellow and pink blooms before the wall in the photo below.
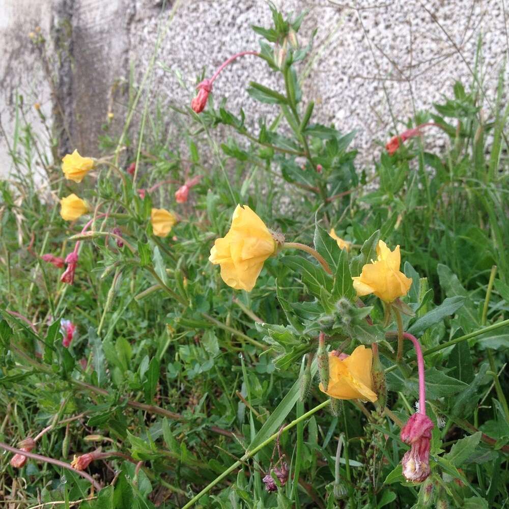
{"type": "Polygon", "coordinates": [[[106,126],[100,150],[38,161],[50,194],[20,166],[40,141],[16,133],[0,183],[0,492],[21,509],[509,496],[506,114],[487,119],[478,82],[456,84],[363,167],[302,92],[323,46],[269,8],[259,48],[206,62],[196,90],[179,76],[174,115],[149,109],[149,67],[120,138],[106,126]],[[245,83],[270,121],[221,98],[241,58],[273,73],[273,89],[245,83]]]}

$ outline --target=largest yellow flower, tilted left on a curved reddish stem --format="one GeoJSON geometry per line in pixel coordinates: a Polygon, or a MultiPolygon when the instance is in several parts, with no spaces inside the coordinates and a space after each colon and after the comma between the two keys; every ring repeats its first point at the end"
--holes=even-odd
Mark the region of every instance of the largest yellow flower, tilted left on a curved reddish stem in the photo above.
{"type": "Polygon", "coordinates": [[[263,263],[275,251],[276,242],[265,223],[247,205],[237,205],[230,231],[215,241],[209,260],[221,266],[228,286],[250,292],[263,263]]]}

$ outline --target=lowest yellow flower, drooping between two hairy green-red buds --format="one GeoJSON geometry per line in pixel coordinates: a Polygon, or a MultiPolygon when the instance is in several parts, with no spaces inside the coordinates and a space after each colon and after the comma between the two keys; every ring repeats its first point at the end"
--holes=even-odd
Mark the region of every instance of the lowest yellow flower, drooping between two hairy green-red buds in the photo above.
{"type": "Polygon", "coordinates": [[[323,390],[320,383],[320,390],[337,400],[377,401],[371,379],[372,363],[373,352],[364,345],[343,360],[329,353],[329,385],[323,390]]]}

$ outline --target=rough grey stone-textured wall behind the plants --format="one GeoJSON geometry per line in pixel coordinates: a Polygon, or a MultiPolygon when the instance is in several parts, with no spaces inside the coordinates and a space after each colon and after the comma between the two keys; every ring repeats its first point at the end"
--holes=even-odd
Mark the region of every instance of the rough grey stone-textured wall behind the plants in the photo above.
{"type": "MultiPolygon", "coordinates": [[[[381,150],[389,131],[404,129],[415,110],[429,108],[452,93],[456,80],[472,82],[476,46],[482,37],[480,79],[495,96],[508,54],[504,0],[279,0],[286,11],[308,10],[299,42],[318,33],[304,97],[316,102],[316,121],[342,131],[358,130],[354,146],[364,161],[381,150]],[[345,3],[343,3],[345,2],[345,3]]],[[[139,85],[154,54],[158,30],[167,25],[175,2],[160,0],[0,0],[0,175],[12,169],[16,104],[36,133],[46,136],[34,103],[56,123],[60,149],[97,155],[101,126],[119,132],[128,104],[128,83],[139,85]],[[28,34],[41,27],[49,69],[28,34]],[[131,69],[134,72],[131,74],[131,69]],[[52,76],[50,86],[48,73],[52,76]],[[63,115],[61,115],[61,113],[63,115]],[[62,120],[64,119],[64,120],[62,120]]],[[[210,76],[235,52],[258,50],[251,24],[267,25],[270,10],[261,0],[181,0],[162,34],[149,82],[152,104],[168,123],[177,122],[169,104],[188,105],[196,76],[210,76]],[[177,76],[182,77],[184,87],[177,76]]],[[[256,80],[280,88],[266,66],[246,56],[214,83],[216,100],[243,107],[256,118],[272,110],[246,94],[256,80]]],[[[493,102],[492,102],[493,103],[493,102]]],[[[490,117],[486,104],[486,117],[490,117]]],[[[442,142],[441,133],[429,143],[442,142]]],[[[428,137],[427,137],[428,140],[428,137]]],[[[49,147],[49,140],[47,147],[49,147]]],[[[48,149],[49,150],[49,149],[48,149]]]]}

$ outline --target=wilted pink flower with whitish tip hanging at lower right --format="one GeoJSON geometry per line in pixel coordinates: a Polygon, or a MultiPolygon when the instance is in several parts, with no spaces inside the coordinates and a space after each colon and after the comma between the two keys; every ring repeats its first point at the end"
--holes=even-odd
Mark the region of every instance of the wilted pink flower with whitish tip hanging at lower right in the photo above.
{"type": "Polygon", "coordinates": [[[414,413],[401,429],[401,439],[411,446],[401,460],[405,479],[421,483],[430,475],[431,430],[434,426],[427,415],[414,413]]]}

